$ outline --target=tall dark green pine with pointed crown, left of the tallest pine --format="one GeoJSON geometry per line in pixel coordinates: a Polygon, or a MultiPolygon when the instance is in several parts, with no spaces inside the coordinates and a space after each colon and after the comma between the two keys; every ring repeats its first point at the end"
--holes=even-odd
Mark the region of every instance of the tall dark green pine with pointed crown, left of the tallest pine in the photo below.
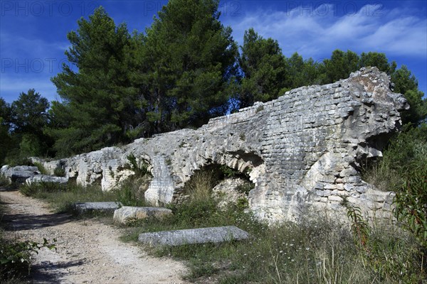
{"type": "Polygon", "coordinates": [[[130,34],[116,26],[102,7],[68,33],[71,65],[52,78],[63,102],[52,106],[49,133],[60,155],[91,151],[125,140],[137,91],[130,82],[130,34]]]}

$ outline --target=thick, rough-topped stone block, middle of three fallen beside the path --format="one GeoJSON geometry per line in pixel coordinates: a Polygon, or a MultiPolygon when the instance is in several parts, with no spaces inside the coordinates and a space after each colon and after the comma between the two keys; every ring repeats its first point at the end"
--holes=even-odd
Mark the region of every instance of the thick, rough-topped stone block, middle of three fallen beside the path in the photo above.
{"type": "Polygon", "coordinates": [[[123,206],[119,209],[116,209],[114,212],[115,222],[125,224],[130,219],[146,219],[149,217],[154,217],[162,219],[167,215],[171,215],[172,210],[162,207],[130,207],[123,206]]]}

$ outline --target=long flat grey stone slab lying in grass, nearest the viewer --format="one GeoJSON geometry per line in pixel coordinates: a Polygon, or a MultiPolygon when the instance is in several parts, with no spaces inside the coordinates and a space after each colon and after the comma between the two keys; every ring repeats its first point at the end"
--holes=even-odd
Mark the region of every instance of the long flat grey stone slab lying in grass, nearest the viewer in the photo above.
{"type": "Polygon", "coordinates": [[[156,231],[139,234],[138,241],[152,246],[181,246],[183,244],[221,243],[248,239],[247,231],[236,226],[216,226],[210,228],[186,229],[176,231],[156,231]]]}

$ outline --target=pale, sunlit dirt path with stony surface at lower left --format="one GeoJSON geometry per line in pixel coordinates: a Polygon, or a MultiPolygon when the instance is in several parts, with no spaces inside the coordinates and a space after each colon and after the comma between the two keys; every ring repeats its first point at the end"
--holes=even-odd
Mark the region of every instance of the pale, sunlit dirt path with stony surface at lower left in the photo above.
{"type": "Polygon", "coordinates": [[[42,249],[36,256],[34,283],[185,283],[182,263],[121,242],[121,229],[53,214],[45,202],[18,191],[1,190],[0,199],[10,234],[42,243],[43,238],[57,239],[56,252],[42,249]]]}

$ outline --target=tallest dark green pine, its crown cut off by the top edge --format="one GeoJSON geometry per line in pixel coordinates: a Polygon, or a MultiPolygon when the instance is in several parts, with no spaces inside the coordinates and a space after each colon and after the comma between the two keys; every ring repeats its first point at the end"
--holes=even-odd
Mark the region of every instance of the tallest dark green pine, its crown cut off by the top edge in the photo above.
{"type": "Polygon", "coordinates": [[[228,108],[237,47],[217,0],[171,0],[147,29],[142,72],[154,131],[200,126],[228,108]]]}

